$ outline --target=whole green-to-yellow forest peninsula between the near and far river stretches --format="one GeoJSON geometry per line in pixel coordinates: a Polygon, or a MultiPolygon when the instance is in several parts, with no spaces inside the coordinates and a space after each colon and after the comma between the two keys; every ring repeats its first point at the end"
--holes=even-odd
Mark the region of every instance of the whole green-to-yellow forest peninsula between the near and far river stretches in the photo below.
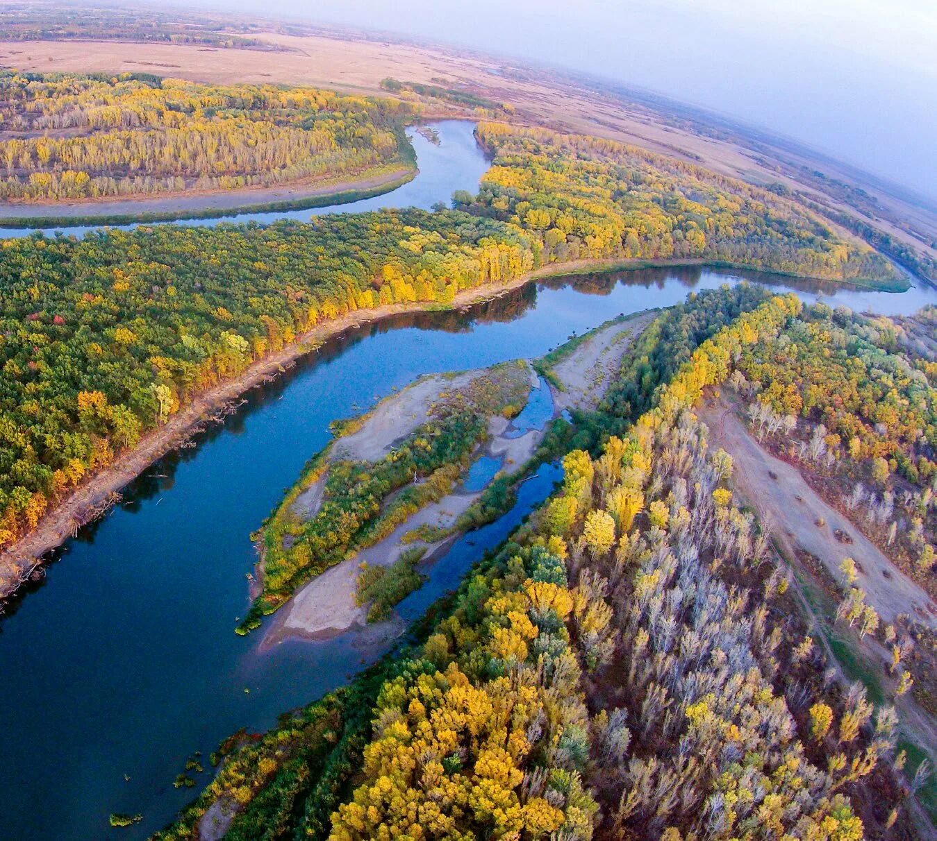
{"type": "Polygon", "coordinates": [[[456,210],[4,241],[0,546],[195,395],[356,310],[634,258],[898,282],[867,246],[745,184],[605,140],[479,131],[498,156],[456,210]]]}

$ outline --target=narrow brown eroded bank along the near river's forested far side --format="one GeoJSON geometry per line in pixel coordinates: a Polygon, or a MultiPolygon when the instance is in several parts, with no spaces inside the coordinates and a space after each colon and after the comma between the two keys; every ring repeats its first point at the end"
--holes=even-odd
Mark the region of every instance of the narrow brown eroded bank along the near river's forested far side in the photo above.
{"type": "MultiPolygon", "coordinates": [[[[648,267],[677,268],[709,265],[699,260],[647,260],[579,261],[550,264],[506,283],[488,285],[460,292],[445,309],[461,310],[472,304],[501,297],[513,289],[533,281],[561,275],[611,273],[648,267]]],[[[810,279],[810,278],[804,278],[810,279]]],[[[68,494],[37,524],[37,528],[23,536],[0,554],[0,598],[9,598],[41,567],[41,558],[71,537],[82,524],[94,519],[96,513],[129,481],[135,479],[157,459],[178,449],[199,431],[206,420],[230,406],[245,391],[283,373],[286,366],[312,352],[325,340],[342,332],[353,330],[365,322],[386,319],[396,315],[439,310],[439,304],[414,302],[389,304],[372,309],[358,310],[348,316],[322,324],[304,333],[297,341],[282,350],[254,362],[246,371],[226,383],[203,392],[193,403],[177,412],[156,430],[144,435],[134,450],[121,453],[104,470],[97,472],[81,487],[68,494]]],[[[41,573],[40,573],[41,574],[41,573]]]]}

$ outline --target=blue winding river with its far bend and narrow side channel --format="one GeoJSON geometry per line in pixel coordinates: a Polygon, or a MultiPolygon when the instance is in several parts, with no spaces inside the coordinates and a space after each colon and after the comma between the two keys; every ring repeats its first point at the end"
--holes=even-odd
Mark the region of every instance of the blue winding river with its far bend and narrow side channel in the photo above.
{"type": "MultiPolygon", "coordinates": [[[[429,207],[455,189],[477,188],[485,162],[471,126],[439,127],[439,146],[416,138],[417,179],[338,210],[429,207]]],[[[462,312],[350,331],[249,392],[222,426],[153,465],[125,489],[122,505],[69,541],[0,625],[0,838],[145,837],[195,796],[198,789],[172,786],[195,751],[207,757],[239,728],[271,726],[387,649],[352,632],[260,651],[262,631],[233,633],[256,561],[248,534],[328,442],[332,420],[365,411],[417,376],[537,357],[618,313],[677,303],[741,276],[654,269],[529,284],[462,312]],[[143,820],[118,835],[108,827],[111,812],[143,820]]],[[[777,277],[747,276],[791,288],[777,277]]],[[[821,291],[800,283],[796,290],[808,300],[821,291]]],[[[937,300],[924,289],[825,292],[833,305],[884,313],[937,300]]],[[[424,589],[401,605],[402,617],[452,588],[556,479],[558,469],[545,465],[521,486],[510,513],[456,541],[424,589]]],[[[210,770],[197,775],[200,786],[210,770]]]]}

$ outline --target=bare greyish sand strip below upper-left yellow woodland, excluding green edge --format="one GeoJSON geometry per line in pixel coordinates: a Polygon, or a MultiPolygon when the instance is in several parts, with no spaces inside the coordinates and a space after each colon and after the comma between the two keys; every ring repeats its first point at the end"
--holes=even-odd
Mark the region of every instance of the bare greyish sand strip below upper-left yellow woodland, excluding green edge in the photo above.
{"type": "Polygon", "coordinates": [[[132,216],[141,214],[186,214],[207,210],[232,211],[253,205],[270,204],[277,201],[298,201],[325,196],[334,196],[349,190],[372,190],[399,184],[414,170],[408,167],[379,174],[362,173],[360,178],[350,177],[329,183],[282,184],[275,187],[246,187],[241,190],[195,193],[186,195],[168,194],[163,197],[120,199],[101,201],[88,199],[69,204],[43,203],[0,203],[0,219],[29,219],[42,216],[132,216]]]}

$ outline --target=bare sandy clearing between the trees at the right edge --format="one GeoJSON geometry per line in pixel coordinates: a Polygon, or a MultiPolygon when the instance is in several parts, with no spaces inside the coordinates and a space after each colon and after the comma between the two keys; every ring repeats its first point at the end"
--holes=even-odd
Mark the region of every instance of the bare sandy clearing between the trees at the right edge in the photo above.
{"type": "Polygon", "coordinates": [[[894,622],[900,613],[909,613],[930,628],[937,628],[937,607],[928,595],[854,524],[826,505],[795,467],[766,452],[724,397],[700,406],[697,414],[709,427],[710,447],[721,447],[732,456],[736,492],[771,526],[789,557],[796,556],[796,548],[803,549],[817,557],[837,581],[842,577],[843,558],[852,557],[861,568],[857,585],[885,622],[894,622]],[[820,518],[826,521],[825,525],[816,524],[820,518]],[[837,529],[853,542],[841,543],[836,539],[837,529]]]}

